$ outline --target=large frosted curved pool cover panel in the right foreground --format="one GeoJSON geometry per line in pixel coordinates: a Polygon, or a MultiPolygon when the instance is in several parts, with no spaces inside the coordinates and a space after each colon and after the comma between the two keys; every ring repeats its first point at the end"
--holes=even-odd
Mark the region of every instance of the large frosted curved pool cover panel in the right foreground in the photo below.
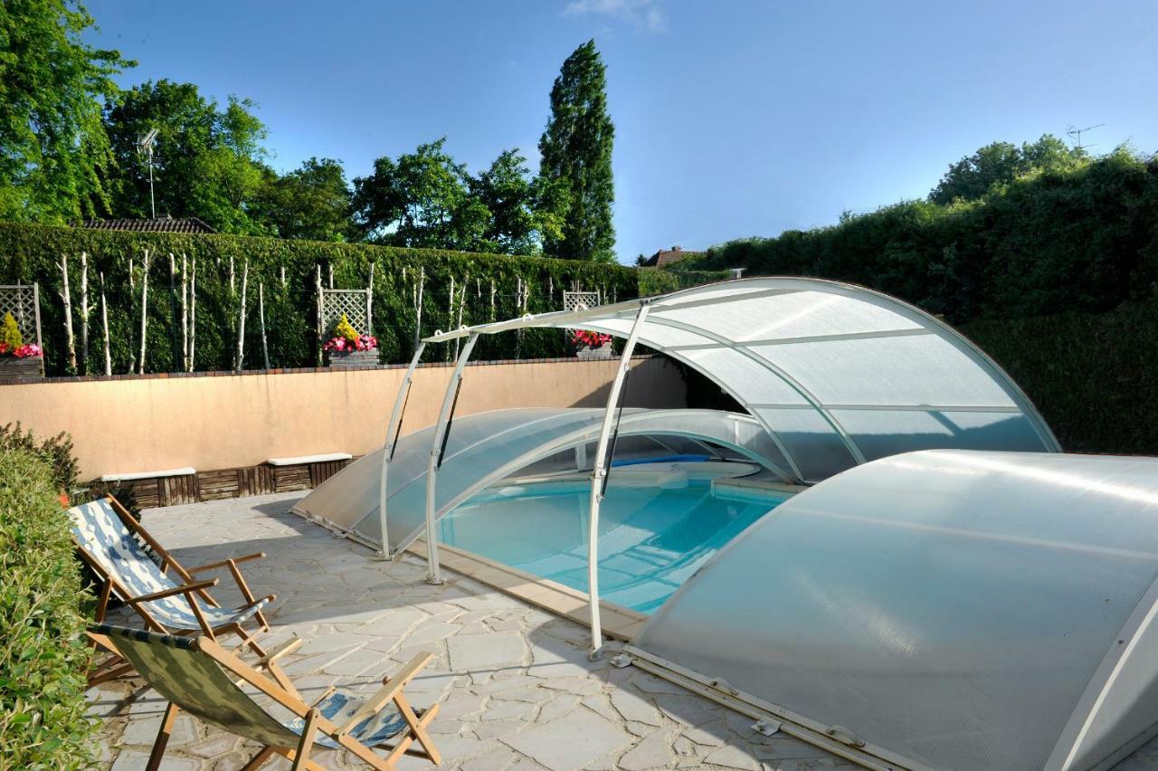
{"type": "Polygon", "coordinates": [[[782,504],[635,645],[903,765],[1104,768],[1158,728],[1156,580],[1158,458],[911,453],[782,504]]]}

